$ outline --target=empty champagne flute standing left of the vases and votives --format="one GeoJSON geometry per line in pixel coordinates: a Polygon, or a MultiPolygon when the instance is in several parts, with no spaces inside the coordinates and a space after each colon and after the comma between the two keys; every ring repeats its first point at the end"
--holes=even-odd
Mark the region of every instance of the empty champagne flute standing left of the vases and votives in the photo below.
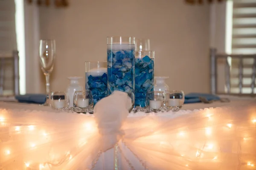
{"type": "Polygon", "coordinates": [[[53,70],[55,60],[55,40],[40,40],[39,56],[41,69],[46,77],[46,102],[44,106],[49,106],[50,95],[50,73],[53,70]]]}

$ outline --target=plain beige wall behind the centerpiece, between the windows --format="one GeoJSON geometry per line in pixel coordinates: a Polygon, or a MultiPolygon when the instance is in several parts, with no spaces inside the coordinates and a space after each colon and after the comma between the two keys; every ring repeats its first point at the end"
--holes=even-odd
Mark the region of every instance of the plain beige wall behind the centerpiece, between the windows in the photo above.
{"type": "MultiPolygon", "coordinates": [[[[170,89],[209,92],[209,5],[184,0],[70,0],[66,9],[39,9],[40,38],[55,39],[51,90],[84,77],[84,61],[106,60],[107,36],[149,38],[155,74],[170,89]]],[[[45,80],[41,74],[41,89],[45,80]]],[[[84,85],[84,81],[81,82],[84,85]]],[[[38,91],[39,92],[39,91],[38,91]]]]}

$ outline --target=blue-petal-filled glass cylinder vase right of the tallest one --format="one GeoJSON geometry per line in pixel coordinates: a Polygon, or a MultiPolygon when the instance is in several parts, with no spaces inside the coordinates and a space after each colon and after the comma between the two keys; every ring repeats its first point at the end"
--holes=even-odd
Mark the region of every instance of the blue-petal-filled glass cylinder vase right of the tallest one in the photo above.
{"type": "Polygon", "coordinates": [[[136,51],[135,106],[146,106],[147,91],[154,91],[154,51],[136,51]]]}

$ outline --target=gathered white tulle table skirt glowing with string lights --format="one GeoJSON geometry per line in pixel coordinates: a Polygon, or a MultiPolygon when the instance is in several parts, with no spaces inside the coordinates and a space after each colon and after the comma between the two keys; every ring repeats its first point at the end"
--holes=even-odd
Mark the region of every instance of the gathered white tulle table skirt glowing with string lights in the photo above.
{"type": "Polygon", "coordinates": [[[255,101],[149,114],[130,104],[119,92],[93,115],[0,103],[0,170],[255,168],[255,101]]]}

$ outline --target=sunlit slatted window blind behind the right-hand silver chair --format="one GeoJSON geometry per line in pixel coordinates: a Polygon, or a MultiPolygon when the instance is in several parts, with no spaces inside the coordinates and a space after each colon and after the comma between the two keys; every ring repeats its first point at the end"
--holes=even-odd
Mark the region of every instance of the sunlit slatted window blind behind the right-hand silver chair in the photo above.
{"type": "MultiPolygon", "coordinates": [[[[256,54],[256,0],[233,0],[232,54],[256,54]]],[[[254,59],[243,59],[242,93],[252,92],[254,59]]],[[[239,92],[239,59],[232,59],[231,92],[239,92]]],[[[256,91],[256,89],[254,89],[256,91]]]]}

